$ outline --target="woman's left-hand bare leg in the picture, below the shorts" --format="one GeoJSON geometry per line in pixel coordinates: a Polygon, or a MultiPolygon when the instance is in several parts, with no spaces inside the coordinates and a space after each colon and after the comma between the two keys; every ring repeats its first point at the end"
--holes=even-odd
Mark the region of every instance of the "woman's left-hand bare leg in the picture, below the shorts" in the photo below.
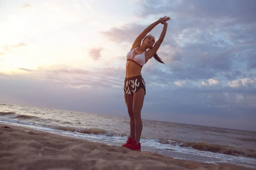
{"type": "Polygon", "coordinates": [[[135,136],[135,120],[133,113],[133,95],[125,94],[125,103],[130,116],[130,138],[133,139],[135,136]]]}

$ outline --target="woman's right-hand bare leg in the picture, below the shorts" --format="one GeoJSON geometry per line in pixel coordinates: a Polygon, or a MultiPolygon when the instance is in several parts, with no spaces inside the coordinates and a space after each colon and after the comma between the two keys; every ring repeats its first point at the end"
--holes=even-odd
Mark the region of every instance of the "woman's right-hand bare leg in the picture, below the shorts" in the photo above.
{"type": "Polygon", "coordinates": [[[140,143],[140,136],[143,128],[143,123],[141,120],[141,109],[143,107],[145,97],[145,91],[141,88],[139,91],[134,93],[133,98],[133,113],[135,119],[135,141],[137,144],[140,143]]]}

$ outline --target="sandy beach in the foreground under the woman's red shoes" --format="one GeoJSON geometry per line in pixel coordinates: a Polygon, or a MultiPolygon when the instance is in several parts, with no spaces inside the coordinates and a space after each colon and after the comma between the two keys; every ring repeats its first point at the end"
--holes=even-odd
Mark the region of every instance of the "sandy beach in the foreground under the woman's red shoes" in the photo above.
{"type": "Polygon", "coordinates": [[[0,170],[251,170],[0,124],[0,170]]]}

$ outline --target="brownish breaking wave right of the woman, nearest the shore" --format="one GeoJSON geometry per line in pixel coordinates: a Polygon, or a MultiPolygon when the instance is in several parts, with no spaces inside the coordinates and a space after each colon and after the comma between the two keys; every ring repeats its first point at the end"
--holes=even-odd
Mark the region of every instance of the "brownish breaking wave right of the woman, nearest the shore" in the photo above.
{"type": "Polygon", "coordinates": [[[192,147],[195,150],[208,151],[212,153],[223,153],[225,155],[256,158],[256,150],[242,150],[235,147],[218,145],[218,144],[209,144],[205,142],[182,142],[175,139],[161,140],[159,142],[162,144],[178,145],[180,147],[192,147]]]}

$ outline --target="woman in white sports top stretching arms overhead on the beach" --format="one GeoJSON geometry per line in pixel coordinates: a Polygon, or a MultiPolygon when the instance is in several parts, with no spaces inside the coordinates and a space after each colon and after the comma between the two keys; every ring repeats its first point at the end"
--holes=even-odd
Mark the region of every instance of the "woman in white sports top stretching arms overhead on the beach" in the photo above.
{"type": "Polygon", "coordinates": [[[145,28],[145,30],[135,39],[131,47],[131,51],[129,51],[126,56],[127,62],[124,91],[125,103],[130,116],[130,136],[122,146],[131,150],[141,150],[140,136],[143,124],[140,112],[143,106],[144,96],[146,94],[145,82],[141,76],[141,70],[143,65],[145,65],[145,63],[147,63],[152,57],[154,57],[158,62],[164,64],[163,60],[157,56],[156,52],[166,35],[166,21],[168,20],[170,20],[169,17],[162,17],[145,28]],[[154,37],[146,35],[159,23],[163,24],[163,31],[157,42],[155,42],[154,37]]]}

